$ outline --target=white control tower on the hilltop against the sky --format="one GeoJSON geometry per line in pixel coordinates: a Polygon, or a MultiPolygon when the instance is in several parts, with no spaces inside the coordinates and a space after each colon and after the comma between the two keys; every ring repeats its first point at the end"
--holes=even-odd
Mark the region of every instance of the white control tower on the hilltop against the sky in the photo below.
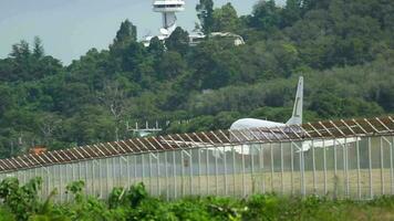
{"type": "Polygon", "coordinates": [[[185,10],[184,0],[154,0],[153,11],[163,14],[163,28],[160,32],[163,35],[170,35],[176,29],[176,12],[185,10]]]}

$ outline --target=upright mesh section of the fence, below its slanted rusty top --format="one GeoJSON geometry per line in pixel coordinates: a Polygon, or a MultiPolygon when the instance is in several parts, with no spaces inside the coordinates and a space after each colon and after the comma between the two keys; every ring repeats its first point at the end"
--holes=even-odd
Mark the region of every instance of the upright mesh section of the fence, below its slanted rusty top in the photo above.
{"type": "Polygon", "coordinates": [[[76,180],[103,199],[115,187],[144,182],[168,200],[268,192],[362,200],[394,193],[393,144],[394,136],[365,136],[206,145],[4,171],[0,179],[41,177],[42,197],[56,188],[59,201],[70,200],[65,187],[76,180]]]}

